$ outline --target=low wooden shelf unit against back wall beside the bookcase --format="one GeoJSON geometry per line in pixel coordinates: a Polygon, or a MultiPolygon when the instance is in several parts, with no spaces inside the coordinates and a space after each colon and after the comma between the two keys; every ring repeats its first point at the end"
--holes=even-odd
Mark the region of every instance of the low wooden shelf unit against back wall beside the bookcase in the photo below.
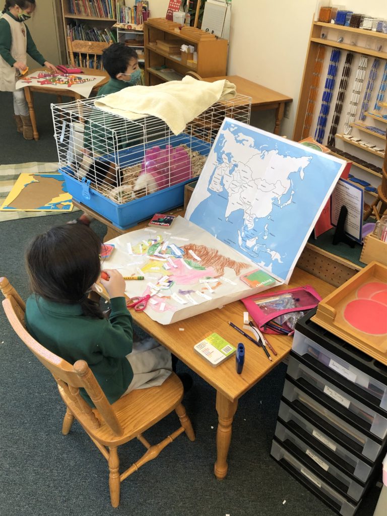
{"type": "Polygon", "coordinates": [[[155,67],[167,66],[181,75],[187,72],[196,72],[201,77],[215,77],[226,74],[228,41],[216,38],[203,30],[193,27],[183,27],[163,18],[151,18],[144,23],[145,46],[145,84],[154,86],[165,82],[152,70],[155,67]],[[184,44],[193,45],[198,53],[197,62],[189,61],[186,65],[180,59],[173,57],[166,51],[157,48],[157,40],[178,40],[184,44]]]}

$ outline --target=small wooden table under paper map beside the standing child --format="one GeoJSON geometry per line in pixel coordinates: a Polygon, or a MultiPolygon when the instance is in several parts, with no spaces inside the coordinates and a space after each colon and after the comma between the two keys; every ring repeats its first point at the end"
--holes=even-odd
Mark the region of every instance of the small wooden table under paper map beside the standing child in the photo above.
{"type": "MultiPolygon", "coordinates": [[[[101,88],[101,86],[103,86],[104,84],[106,84],[108,82],[108,80],[110,78],[109,74],[107,74],[106,72],[103,72],[102,70],[94,70],[92,68],[81,68],[81,70],[85,73],[85,75],[98,75],[98,76],[104,77],[98,84],[96,84],[94,86],[94,88],[91,90],[91,93],[96,93],[101,88]]],[[[45,72],[45,71],[46,71],[46,69],[44,67],[36,68],[35,70],[30,71],[28,73],[28,75],[33,75],[33,74],[36,74],[39,72],[45,72]]],[[[33,97],[34,91],[37,91],[38,93],[51,93],[52,95],[56,94],[58,96],[58,102],[62,102],[62,99],[61,99],[62,95],[73,97],[74,100],[79,100],[79,99],[83,98],[82,95],[79,95],[79,93],[71,90],[67,86],[64,86],[64,87],[61,87],[61,86],[58,86],[58,87],[28,86],[28,84],[26,84],[24,86],[24,93],[25,93],[25,98],[26,98],[27,104],[28,104],[29,117],[31,119],[31,124],[33,126],[35,140],[39,140],[39,133],[38,133],[37,125],[36,125],[36,117],[35,117],[35,109],[34,109],[34,97],[33,97]]]]}

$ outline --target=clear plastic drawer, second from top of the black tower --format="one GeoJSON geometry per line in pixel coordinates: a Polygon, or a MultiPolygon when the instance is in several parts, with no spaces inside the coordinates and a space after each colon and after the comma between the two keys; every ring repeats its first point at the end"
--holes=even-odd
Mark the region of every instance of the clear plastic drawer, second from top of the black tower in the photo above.
{"type": "MultiPolygon", "coordinates": [[[[287,374],[291,376],[307,392],[315,393],[321,401],[330,404],[332,412],[359,429],[369,431],[380,439],[387,435],[387,412],[382,409],[371,408],[364,398],[359,400],[355,393],[344,388],[340,383],[328,378],[325,371],[303,363],[303,358],[296,358],[291,352],[287,374]],[[378,411],[376,411],[378,410],[378,411]]],[[[317,363],[319,366],[320,364],[317,363]]]]}

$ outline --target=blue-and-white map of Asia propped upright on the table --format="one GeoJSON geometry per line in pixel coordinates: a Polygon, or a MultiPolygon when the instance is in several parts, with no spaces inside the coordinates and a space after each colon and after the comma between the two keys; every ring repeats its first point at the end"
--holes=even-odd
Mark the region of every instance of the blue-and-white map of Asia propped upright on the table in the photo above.
{"type": "Polygon", "coordinates": [[[288,283],[345,165],[226,118],[185,217],[288,283]]]}

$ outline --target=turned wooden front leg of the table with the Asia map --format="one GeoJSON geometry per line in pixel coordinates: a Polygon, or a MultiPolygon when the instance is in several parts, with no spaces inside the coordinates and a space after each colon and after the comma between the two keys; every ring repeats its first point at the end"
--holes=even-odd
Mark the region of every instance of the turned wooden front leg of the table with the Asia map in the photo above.
{"type": "Polygon", "coordinates": [[[214,473],[218,480],[227,475],[227,456],[229,453],[232,423],[238,400],[230,401],[219,391],[216,392],[216,411],[218,412],[218,429],[216,432],[216,462],[214,473]]]}

